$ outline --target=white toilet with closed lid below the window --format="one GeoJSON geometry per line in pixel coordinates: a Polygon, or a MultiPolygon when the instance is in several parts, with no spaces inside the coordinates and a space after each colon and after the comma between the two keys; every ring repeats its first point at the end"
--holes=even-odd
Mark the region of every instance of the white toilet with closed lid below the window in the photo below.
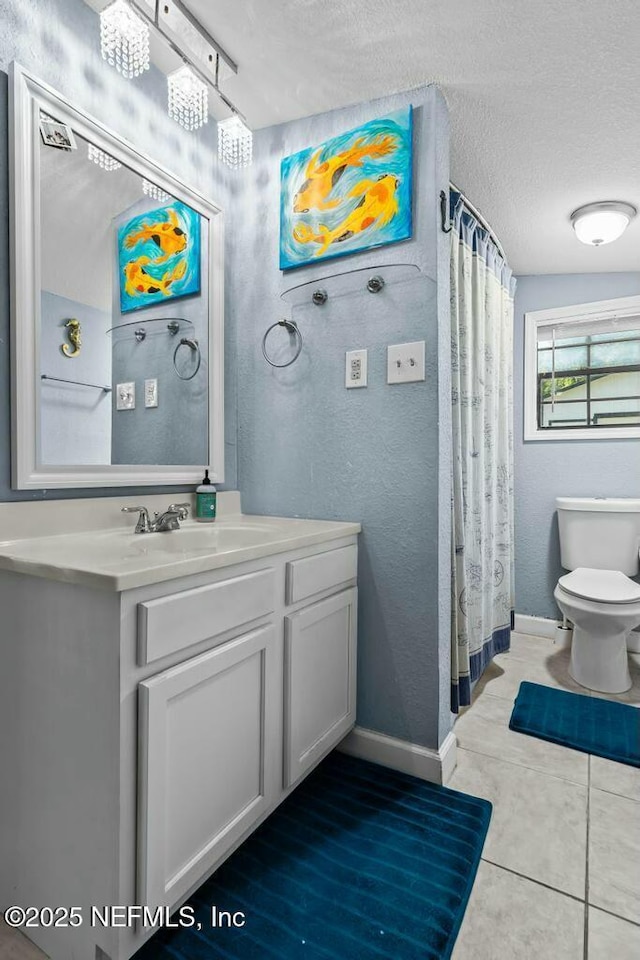
{"type": "Polygon", "coordinates": [[[640,499],[556,499],[560,562],[554,591],[573,623],[569,673],[583,687],[623,693],[631,686],[627,650],[637,648],[640,499]]]}

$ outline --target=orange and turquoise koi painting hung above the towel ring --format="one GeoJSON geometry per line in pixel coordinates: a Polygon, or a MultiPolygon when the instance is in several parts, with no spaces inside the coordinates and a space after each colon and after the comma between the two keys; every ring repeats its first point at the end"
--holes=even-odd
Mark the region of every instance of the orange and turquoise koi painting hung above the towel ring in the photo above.
{"type": "Polygon", "coordinates": [[[412,108],[285,157],[280,269],[411,237],[412,108]]]}

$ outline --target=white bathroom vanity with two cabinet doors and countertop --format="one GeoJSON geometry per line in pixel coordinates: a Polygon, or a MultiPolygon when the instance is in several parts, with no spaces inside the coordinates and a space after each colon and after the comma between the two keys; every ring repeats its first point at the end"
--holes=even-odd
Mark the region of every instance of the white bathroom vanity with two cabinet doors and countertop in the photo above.
{"type": "Polygon", "coordinates": [[[0,544],[0,903],[81,908],[25,929],[52,960],[130,957],[91,907],[181,904],[353,726],[359,530],[0,544]]]}

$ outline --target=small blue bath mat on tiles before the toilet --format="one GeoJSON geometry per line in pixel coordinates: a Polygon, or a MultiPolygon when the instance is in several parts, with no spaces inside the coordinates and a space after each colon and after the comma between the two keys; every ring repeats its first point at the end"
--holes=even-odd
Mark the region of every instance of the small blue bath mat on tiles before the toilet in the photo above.
{"type": "Polygon", "coordinates": [[[541,740],[640,767],[640,709],[523,681],[509,726],[541,740]]]}

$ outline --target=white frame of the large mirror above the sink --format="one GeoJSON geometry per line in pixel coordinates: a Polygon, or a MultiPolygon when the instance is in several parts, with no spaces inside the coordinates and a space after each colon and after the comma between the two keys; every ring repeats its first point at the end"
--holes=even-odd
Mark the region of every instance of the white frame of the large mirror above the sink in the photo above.
{"type": "Polygon", "coordinates": [[[19,64],[10,67],[9,185],[11,237],[11,482],[14,489],[197,484],[209,467],[224,480],[224,225],[220,207],[73,106],[19,64]],[[209,222],[209,464],[43,466],[40,420],[39,112],[182,200],[209,222]]]}

